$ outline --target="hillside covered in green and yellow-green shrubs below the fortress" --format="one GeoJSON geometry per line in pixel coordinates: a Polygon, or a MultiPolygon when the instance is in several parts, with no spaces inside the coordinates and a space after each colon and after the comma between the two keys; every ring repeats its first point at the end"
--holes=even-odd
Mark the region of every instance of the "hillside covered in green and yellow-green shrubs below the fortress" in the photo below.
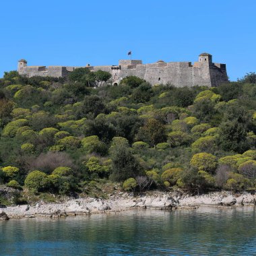
{"type": "Polygon", "coordinates": [[[103,196],[256,187],[255,73],[218,88],[152,86],[76,69],[68,79],[0,79],[0,183],[103,196]]]}

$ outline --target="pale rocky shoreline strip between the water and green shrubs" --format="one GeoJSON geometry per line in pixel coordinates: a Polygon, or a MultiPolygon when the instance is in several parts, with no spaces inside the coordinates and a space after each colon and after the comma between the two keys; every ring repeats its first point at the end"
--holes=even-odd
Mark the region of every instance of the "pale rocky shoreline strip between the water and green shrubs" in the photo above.
{"type": "Polygon", "coordinates": [[[84,197],[67,199],[61,203],[44,203],[35,205],[17,205],[2,209],[0,220],[9,218],[36,218],[38,216],[59,218],[65,216],[122,212],[125,210],[150,208],[174,210],[179,208],[195,208],[201,205],[226,207],[256,205],[256,195],[252,193],[234,194],[230,191],[213,192],[203,195],[189,195],[181,192],[154,192],[141,195],[118,193],[109,199],[84,197]]]}

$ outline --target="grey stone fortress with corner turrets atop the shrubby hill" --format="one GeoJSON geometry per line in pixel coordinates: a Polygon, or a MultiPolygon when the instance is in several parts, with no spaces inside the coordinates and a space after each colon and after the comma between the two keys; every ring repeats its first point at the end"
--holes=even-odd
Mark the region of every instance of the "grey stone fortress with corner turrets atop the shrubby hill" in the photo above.
{"type": "MultiPolygon", "coordinates": [[[[201,53],[193,65],[191,62],[164,62],[142,64],[140,60],[120,60],[119,65],[111,66],[84,66],[90,71],[108,71],[112,77],[112,84],[119,84],[127,75],[135,75],[145,79],[150,84],[167,84],[173,86],[219,86],[228,82],[226,64],[213,63],[212,55],[201,53]]],[[[18,61],[18,72],[28,77],[51,76],[67,77],[77,67],[64,66],[27,66],[27,61],[18,61]]]]}

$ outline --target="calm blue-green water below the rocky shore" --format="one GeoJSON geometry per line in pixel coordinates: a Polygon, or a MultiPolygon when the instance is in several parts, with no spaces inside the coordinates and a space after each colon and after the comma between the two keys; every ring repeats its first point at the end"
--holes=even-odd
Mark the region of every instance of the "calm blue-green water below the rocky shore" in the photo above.
{"type": "Polygon", "coordinates": [[[256,255],[255,207],[0,222],[0,255],[256,255]]]}

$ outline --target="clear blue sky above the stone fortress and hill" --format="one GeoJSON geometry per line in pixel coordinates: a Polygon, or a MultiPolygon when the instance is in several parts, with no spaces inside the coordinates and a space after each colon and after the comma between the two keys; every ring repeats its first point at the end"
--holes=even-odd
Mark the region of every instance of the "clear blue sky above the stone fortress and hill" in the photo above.
{"type": "Polygon", "coordinates": [[[0,77],[28,65],[226,63],[231,80],[256,71],[255,0],[1,1],[0,77]]]}

